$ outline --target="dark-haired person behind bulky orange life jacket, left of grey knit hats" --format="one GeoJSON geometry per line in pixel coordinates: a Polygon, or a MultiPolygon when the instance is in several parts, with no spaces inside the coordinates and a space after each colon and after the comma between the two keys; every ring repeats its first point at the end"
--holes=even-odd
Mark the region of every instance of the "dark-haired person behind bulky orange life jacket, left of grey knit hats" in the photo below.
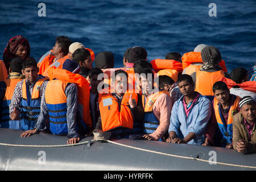
{"type": "Polygon", "coordinates": [[[177,52],[168,53],[165,59],[155,59],[150,61],[153,69],[158,72],[158,76],[167,75],[175,82],[183,71],[181,63],[181,55],[177,52]]]}

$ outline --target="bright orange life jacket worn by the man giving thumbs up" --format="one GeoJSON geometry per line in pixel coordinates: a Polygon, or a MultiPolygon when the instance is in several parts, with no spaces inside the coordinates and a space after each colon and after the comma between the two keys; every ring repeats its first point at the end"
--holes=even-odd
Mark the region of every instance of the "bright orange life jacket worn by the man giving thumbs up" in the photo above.
{"type": "MultiPolygon", "coordinates": [[[[99,94],[98,97],[102,131],[109,131],[120,126],[133,129],[133,116],[129,109],[130,94],[126,92],[123,95],[121,106],[119,106],[117,98],[112,96],[112,93],[108,93],[108,90],[109,88],[104,89],[105,93],[99,94]]],[[[131,93],[131,95],[138,103],[138,95],[136,93],[131,93]]]]}

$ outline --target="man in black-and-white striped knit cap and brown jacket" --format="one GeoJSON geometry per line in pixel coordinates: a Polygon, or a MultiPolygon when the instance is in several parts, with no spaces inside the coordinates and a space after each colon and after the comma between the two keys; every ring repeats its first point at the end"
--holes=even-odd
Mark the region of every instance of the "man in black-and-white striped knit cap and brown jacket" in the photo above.
{"type": "Polygon", "coordinates": [[[256,102],[246,96],[239,105],[240,112],[233,118],[233,147],[240,153],[256,152],[256,102]]]}

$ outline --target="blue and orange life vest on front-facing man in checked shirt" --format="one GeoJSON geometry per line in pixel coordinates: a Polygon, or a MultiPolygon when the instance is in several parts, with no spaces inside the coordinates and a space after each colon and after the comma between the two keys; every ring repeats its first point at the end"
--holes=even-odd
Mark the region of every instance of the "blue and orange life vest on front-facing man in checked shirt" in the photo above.
{"type": "Polygon", "coordinates": [[[22,113],[21,130],[32,130],[35,127],[36,120],[40,114],[40,88],[47,77],[38,80],[30,96],[29,87],[24,79],[22,84],[22,100],[20,102],[20,111],[22,113]]]}

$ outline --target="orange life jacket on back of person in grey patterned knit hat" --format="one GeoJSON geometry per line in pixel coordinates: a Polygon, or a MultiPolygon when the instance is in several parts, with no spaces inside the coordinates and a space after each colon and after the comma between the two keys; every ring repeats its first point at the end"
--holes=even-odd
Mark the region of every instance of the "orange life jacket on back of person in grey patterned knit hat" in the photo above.
{"type": "Polygon", "coordinates": [[[225,73],[223,71],[205,72],[200,71],[199,69],[196,72],[195,91],[199,92],[203,96],[214,96],[214,93],[212,92],[212,86],[222,77],[225,77],[225,73]]]}

